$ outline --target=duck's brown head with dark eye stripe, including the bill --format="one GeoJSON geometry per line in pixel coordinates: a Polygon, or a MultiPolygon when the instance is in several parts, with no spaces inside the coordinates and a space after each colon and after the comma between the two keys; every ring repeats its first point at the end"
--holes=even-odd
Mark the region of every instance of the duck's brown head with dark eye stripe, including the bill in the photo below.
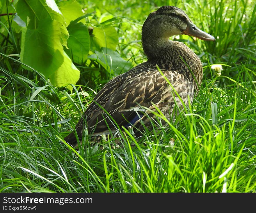
{"type": "Polygon", "coordinates": [[[142,43],[154,39],[169,40],[171,36],[185,34],[198,39],[215,41],[210,34],[196,27],[181,9],[174,6],[162,6],[147,17],[142,27],[142,43]]]}

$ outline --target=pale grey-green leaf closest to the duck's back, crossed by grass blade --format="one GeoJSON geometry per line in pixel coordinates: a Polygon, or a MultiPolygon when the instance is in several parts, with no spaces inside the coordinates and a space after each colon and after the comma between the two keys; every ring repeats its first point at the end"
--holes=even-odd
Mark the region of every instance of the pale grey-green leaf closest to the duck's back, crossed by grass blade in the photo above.
{"type": "Polygon", "coordinates": [[[97,61],[108,71],[113,70],[114,75],[128,71],[132,66],[131,62],[124,60],[117,52],[111,49],[103,47],[101,51],[96,50],[95,53],[89,55],[88,59],[97,61]]]}

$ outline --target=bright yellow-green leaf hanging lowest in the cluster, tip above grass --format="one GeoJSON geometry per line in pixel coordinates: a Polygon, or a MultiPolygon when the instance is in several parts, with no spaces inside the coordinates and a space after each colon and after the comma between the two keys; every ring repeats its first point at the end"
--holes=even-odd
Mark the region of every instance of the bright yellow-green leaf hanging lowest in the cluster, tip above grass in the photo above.
{"type": "MultiPolygon", "coordinates": [[[[63,50],[64,63],[61,67],[50,76],[50,81],[53,85],[62,87],[68,84],[75,84],[79,80],[80,71],[72,63],[71,59],[63,50]]],[[[72,90],[72,86],[68,85],[68,89],[72,90]]]]}

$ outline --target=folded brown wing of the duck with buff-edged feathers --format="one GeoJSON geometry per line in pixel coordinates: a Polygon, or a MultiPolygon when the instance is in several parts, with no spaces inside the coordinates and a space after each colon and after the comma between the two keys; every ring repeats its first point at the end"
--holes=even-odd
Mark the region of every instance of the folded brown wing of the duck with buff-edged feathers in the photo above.
{"type": "MultiPolygon", "coordinates": [[[[141,64],[140,64],[141,65],[141,64]]],[[[150,108],[154,104],[174,104],[172,89],[155,66],[137,66],[127,73],[116,76],[100,90],[76,125],[79,139],[86,126],[91,135],[116,131],[116,125],[133,125],[145,113],[140,106],[150,108]],[[141,69],[139,69],[141,68],[141,69]]],[[[161,70],[177,92],[182,92],[182,74],[161,70]]],[[[186,85],[184,90],[186,90],[186,85]]],[[[77,142],[74,134],[65,140],[77,142]]]]}

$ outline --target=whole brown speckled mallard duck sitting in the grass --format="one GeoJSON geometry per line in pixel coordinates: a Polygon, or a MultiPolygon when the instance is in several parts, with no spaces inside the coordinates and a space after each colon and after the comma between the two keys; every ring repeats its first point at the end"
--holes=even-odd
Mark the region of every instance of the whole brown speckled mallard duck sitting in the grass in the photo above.
{"type": "Polygon", "coordinates": [[[189,101],[192,103],[202,82],[202,63],[184,43],[169,40],[179,34],[215,41],[213,36],[198,29],[186,13],[175,6],[162,6],[150,13],[142,27],[142,46],[147,62],[106,83],[75,130],[64,138],[65,141],[76,145],[82,139],[85,128],[92,137],[116,132],[116,124],[141,130],[141,122],[149,126],[150,118],[154,119],[152,111],[155,107],[170,118],[175,100],[179,107],[183,107],[173,89],[186,106],[189,101]]]}

